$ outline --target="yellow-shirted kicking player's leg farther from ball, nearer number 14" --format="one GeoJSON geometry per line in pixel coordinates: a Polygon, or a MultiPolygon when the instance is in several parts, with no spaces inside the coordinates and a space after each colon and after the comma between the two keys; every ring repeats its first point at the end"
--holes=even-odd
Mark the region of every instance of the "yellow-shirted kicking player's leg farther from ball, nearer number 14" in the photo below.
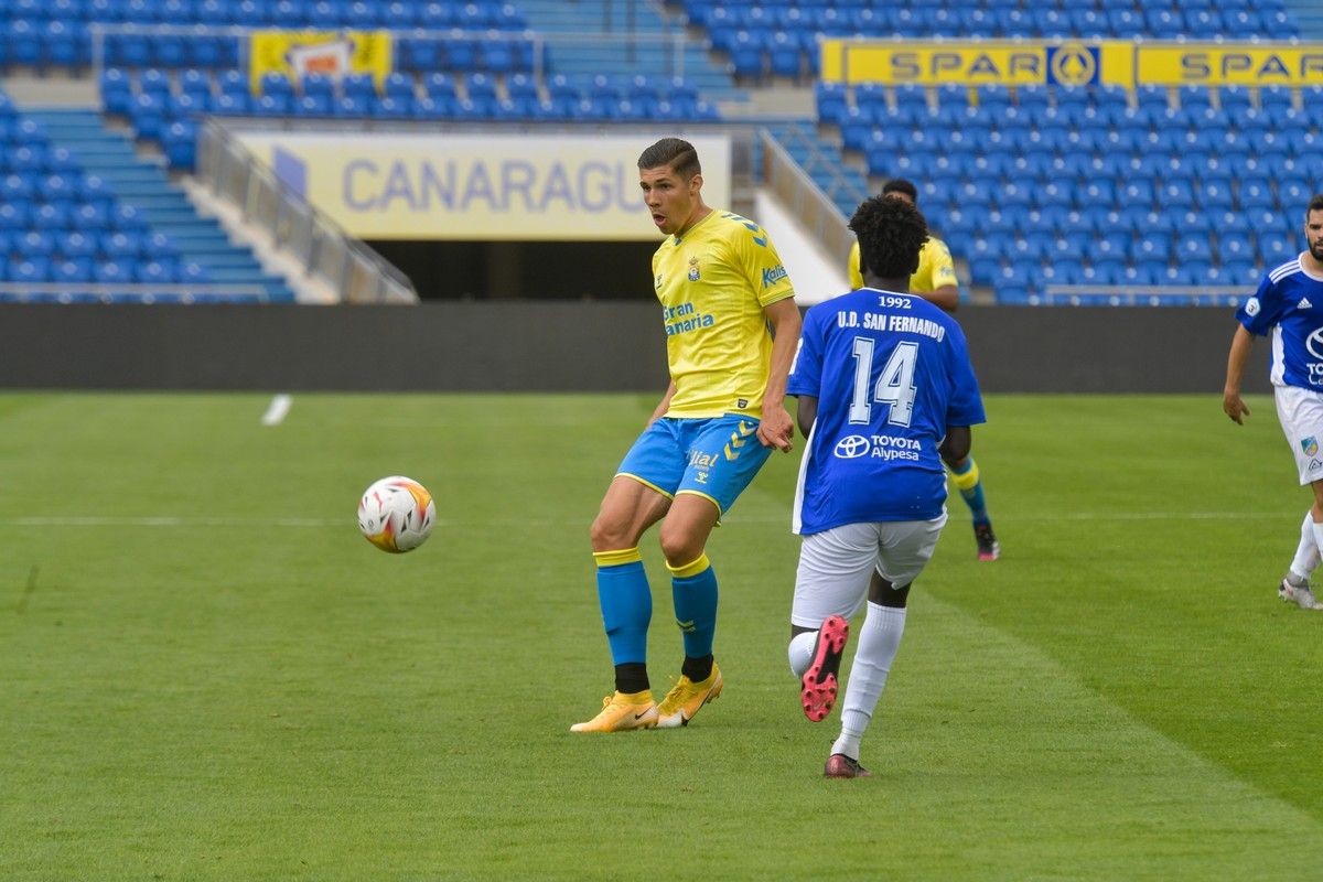
{"type": "Polygon", "coordinates": [[[663,729],[687,726],[721,694],[721,669],[712,653],[720,592],[706,546],[717,520],[771,454],[758,443],[757,431],[758,422],[747,417],[685,421],[687,467],[660,530],[675,621],[684,641],[680,678],[659,707],[663,729]]]}

